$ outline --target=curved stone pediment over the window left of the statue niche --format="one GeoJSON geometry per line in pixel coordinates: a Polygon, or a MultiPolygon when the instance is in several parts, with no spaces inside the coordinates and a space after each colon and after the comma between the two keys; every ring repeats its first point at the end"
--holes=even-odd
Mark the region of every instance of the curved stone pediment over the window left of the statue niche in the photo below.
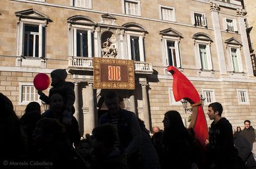
{"type": "Polygon", "coordinates": [[[96,25],[96,22],[93,21],[92,18],[87,16],[72,16],[70,18],[67,18],[67,22],[71,24],[80,24],[80,25],[96,25]]]}

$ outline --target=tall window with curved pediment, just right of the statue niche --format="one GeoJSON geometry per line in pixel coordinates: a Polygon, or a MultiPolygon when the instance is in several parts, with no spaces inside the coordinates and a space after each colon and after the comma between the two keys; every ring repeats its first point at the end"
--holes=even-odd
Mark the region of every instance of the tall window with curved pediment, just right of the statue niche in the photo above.
{"type": "Polygon", "coordinates": [[[127,59],[145,62],[144,37],[147,33],[146,29],[137,23],[127,23],[122,27],[125,29],[127,59]]]}

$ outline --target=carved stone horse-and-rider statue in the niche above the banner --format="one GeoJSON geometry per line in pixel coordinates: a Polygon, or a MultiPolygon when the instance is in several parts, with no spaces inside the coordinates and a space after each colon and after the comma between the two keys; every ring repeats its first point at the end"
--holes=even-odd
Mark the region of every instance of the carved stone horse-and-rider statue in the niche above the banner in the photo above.
{"type": "Polygon", "coordinates": [[[106,42],[102,43],[101,49],[102,57],[105,58],[116,58],[116,36],[112,34],[110,38],[107,38],[106,42]]]}

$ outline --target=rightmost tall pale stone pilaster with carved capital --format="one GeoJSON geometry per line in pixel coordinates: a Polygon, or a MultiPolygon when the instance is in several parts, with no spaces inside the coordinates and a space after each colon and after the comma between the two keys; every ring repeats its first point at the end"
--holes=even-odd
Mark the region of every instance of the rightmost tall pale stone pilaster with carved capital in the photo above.
{"type": "Polygon", "coordinates": [[[248,76],[254,76],[253,75],[253,65],[252,65],[252,61],[250,58],[250,49],[249,49],[249,44],[248,44],[248,39],[247,39],[247,32],[246,32],[245,23],[244,23],[245,14],[246,14],[246,12],[244,9],[237,9],[238,25],[240,28],[241,39],[242,39],[242,43],[243,43],[244,59],[245,59],[245,64],[247,66],[248,76]]]}

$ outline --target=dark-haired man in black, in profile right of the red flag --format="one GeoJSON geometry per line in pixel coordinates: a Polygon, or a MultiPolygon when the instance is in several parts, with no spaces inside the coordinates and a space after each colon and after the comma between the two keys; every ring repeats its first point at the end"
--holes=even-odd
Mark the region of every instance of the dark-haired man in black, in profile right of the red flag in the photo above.
{"type": "Polygon", "coordinates": [[[205,141],[209,153],[210,168],[233,168],[235,156],[233,131],[230,122],[221,117],[223,107],[220,103],[211,103],[208,106],[208,116],[211,123],[209,140],[205,141]]]}

